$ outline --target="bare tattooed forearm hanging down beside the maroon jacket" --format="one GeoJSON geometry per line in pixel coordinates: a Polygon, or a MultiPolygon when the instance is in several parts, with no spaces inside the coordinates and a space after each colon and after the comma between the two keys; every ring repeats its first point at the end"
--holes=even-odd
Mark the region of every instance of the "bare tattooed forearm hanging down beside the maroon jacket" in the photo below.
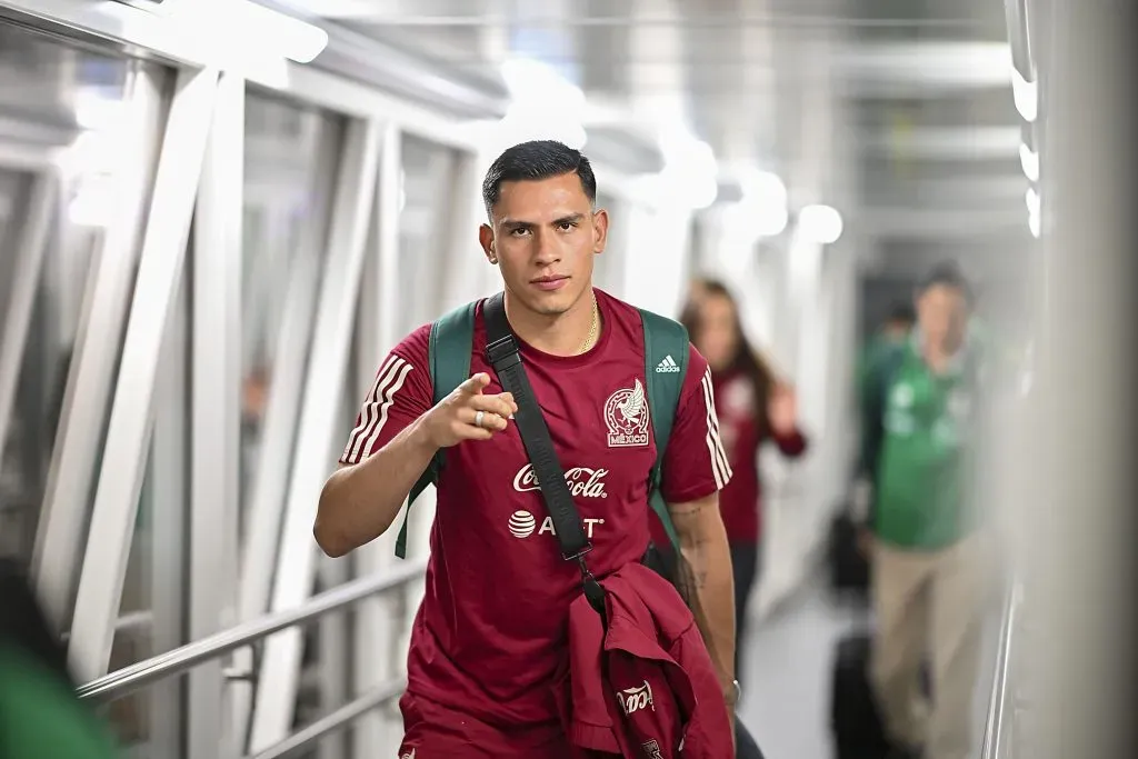
{"type": "MultiPolygon", "coordinates": [[[[714,508],[714,504],[712,506],[714,508]]],[[[682,511],[673,513],[681,546],[676,586],[692,610],[724,693],[735,679],[735,581],[727,535],[716,512],[718,529],[684,530],[682,511]]]]}

